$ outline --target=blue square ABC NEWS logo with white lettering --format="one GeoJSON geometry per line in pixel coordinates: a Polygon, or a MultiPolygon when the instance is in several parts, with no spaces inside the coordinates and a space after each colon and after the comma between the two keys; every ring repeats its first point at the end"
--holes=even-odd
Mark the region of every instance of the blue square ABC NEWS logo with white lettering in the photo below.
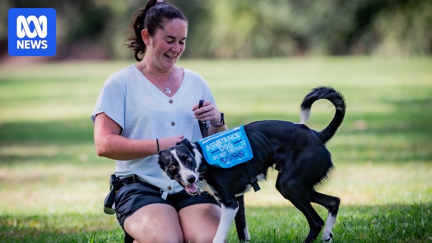
{"type": "Polygon", "coordinates": [[[8,51],[11,56],[54,56],[56,10],[10,9],[8,51]]]}

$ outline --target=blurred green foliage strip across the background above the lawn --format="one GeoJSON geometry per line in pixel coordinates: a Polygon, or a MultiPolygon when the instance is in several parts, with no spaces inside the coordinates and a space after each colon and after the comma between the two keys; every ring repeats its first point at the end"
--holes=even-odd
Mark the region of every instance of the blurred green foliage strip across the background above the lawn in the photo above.
{"type": "MultiPolygon", "coordinates": [[[[189,20],[189,58],[252,58],[432,53],[430,0],[171,0],[189,20]]],[[[56,58],[126,58],[125,34],[137,0],[3,0],[0,54],[7,55],[7,10],[55,8],[56,58]]]]}

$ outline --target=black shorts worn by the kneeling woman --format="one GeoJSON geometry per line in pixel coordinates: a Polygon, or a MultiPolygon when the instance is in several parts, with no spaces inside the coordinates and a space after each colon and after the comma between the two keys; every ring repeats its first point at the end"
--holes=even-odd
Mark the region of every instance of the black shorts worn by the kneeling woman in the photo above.
{"type": "MultiPolygon", "coordinates": [[[[124,220],[143,206],[153,203],[164,203],[173,206],[177,212],[187,206],[199,203],[219,203],[214,197],[203,193],[189,195],[186,191],[168,194],[166,200],[162,198],[161,190],[145,182],[131,183],[122,186],[115,197],[115,211],[120,225],[124,220]]],[[[123,227],[124,229],[124,227],[123,227]]]]}

